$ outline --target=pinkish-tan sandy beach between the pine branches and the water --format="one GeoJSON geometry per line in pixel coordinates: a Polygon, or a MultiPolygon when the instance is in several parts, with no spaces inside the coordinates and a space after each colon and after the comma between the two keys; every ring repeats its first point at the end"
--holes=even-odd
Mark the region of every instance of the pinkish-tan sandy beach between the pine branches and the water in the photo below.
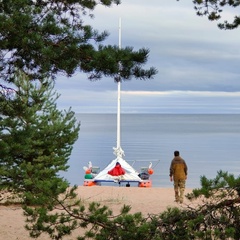
{"type": "MultiPolygon", "coordinates": [[[[80,186],[77,192],[84,202],[97,201],[107,205],[116,214],[124,204],[131,206],[130,213],[142,212],[144,215],[160,213],[167,207],[184,208],[191,204],[187,199],[183,204],[174,202],[173,188],[80,186]]],[[[189,192],[191,189],[186,189],[185,193],[189,192]]],[[[24,225],[24,216],[20,207],[0,206],[0,240],[31,239],[24,225]]],[[[74,236],[75,234],[65,237],[64,240],[76,239],[74,236]]],[[[43,235],[38,239],[48,240],[49,238],[43,235]]]]}

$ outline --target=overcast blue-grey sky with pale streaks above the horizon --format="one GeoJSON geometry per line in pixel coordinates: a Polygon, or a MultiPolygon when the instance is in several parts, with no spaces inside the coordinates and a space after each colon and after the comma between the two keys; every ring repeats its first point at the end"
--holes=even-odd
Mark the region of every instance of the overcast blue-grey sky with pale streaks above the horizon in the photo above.
{"type": "MultiPolygon", "coordinates": [[[[236,9],[235,9],[235,12],[236,9]]],[[[232,9],[224,17],[232,19],[232,9]]],[[[112,8],[99,6],[88,22],[107,30],[106,44],[150,50],[146,68],[157,68],[152,80],[121,84],[123,113],[240,113],[239,29],[219,30],[216,22],[198,17],[191,0],[122,0],[112,8]]],[[[117,84],[87,75],[56,80],[60,108],[76,113],[115,113],[117,84]]]]}

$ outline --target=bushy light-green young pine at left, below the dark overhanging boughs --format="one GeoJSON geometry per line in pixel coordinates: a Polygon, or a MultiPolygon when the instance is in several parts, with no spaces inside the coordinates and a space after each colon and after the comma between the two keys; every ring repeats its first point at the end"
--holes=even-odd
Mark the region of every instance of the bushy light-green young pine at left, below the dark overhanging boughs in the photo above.
{"type": "Polygon", "coordinates": [[[68,186],[58,174],[68,169],[79,124],[71,109],[57,109],[52,81],[31,82],[19,73],[14,85],[15,94],[0,101],[0,188],[47,205],[49,195],[68,186]]]}

